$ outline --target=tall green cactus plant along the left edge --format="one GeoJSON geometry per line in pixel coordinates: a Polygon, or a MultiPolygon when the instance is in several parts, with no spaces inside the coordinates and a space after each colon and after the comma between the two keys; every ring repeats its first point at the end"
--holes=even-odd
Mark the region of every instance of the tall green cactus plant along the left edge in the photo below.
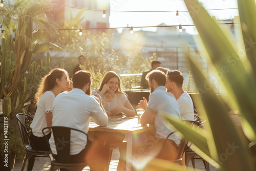
{"type": "Polygon", "coordinates": [[[5,27],[0,47],[0,99],[8,118],[13,118],[34,96],[40,67],[43,75],[50,70],[49,53],[45,68],[42,63],[31,63],[32,54],[39,49],[39,44],[32,47],[33,23],[49,34],[57,33],[56,24],[45,16],[54,5],[52,1],[14,0],[0,9],[0,24],[5,27]]]}

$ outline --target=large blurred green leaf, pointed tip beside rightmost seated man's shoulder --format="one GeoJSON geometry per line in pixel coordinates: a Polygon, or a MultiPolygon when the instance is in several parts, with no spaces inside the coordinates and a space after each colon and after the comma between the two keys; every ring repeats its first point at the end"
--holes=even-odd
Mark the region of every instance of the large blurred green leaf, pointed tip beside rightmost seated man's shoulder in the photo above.
{"type": "Polygon", "coordinates": [[[209,149],[216,148],[223,170],[255,170],[245,139],[229,118],[223,99],[217,97],[200,65],[190,58],[189,63],[214,138],[214,142],[208,141],[209,149]]]}

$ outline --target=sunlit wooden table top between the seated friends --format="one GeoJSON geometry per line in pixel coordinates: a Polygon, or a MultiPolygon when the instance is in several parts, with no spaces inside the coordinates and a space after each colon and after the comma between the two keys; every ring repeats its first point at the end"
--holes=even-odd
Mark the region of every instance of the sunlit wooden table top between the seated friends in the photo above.
{"type": "Polygon", "coordinates": [[[106,126],[99,126],[92,120],[89,124],[89,131],[119,132],[119,133],[137,133],[155,129],[155,125],[141,125],[138,123],[137,116],[114,116],[109,117],[109,123],[106,126]]]}

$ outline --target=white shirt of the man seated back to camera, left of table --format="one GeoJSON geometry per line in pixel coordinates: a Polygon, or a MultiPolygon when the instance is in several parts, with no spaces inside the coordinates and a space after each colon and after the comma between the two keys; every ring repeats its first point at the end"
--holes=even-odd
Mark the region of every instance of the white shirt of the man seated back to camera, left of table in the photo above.
{"type": "MultiPolygon", "coordinates": [[[[108,124],[108,116],[104,114],[99,103],[81,89],[63,92],[53,102],[53,126],[67,126],[88,133],[91,118],[96,124],[108,124]]],[[[57,154],[53,134],[49,140],[52,152],[57,154]]],[[[78,154],[86,147],[86,135],[71,131],[70,154],[78,154]]]]}

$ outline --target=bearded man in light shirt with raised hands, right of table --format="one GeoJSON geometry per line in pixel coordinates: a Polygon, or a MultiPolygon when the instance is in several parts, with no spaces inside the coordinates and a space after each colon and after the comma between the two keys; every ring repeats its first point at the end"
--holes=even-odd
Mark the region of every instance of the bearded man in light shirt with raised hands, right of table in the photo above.
{"type": "Polygon", "coordinates": [[[163,72],[158,70],[151,71],[146,75],[146,79],[148,80],[151,95],[148,104],[145,98],[139,103],[139,107],[144,109],[140,123],[152,123],[156,126],[155,138],[157,141],[150,150],[151,153],[157,154],[156,157],[160,159],[173,160],[177,155],[180,138],[177,134],[173,134],[164,144],[165,138],[174,130],[165,126],[164,122],[167,121],[164,121],[163,115],[180,119],[179,105],[175,97],[166,92],[164,87],[166,75],[163,72]]]}

